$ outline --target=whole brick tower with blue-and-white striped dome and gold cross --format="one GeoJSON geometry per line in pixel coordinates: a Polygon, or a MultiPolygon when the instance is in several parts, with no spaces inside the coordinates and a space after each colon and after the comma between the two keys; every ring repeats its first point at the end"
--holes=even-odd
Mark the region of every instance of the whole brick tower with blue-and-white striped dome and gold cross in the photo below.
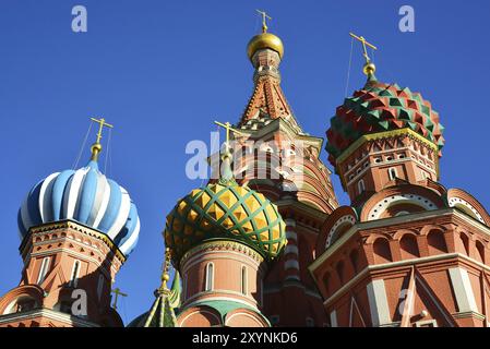
{"type": "Polygon", "coordinates": [[[128,192],[98,168],[101,129],[110,125],[95,121],[89,163],[48,176],[19,210],[24,269],[0,299],[0,326],[122,326],[111,285],[138,242],[140,219],[128,192]]]}

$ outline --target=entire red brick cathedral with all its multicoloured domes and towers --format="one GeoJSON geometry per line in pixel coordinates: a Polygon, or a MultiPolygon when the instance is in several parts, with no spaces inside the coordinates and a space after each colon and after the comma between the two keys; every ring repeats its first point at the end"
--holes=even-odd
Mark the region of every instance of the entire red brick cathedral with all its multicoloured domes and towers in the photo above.
{"type": "MultiPolygon", "coordinates": [[[[286,99],[284,46],[261,14],[262,33],[247,47],[252,96],[235,125],[220,123],[220,174],[168,214],[162,285],[129,326],[488,326],[490,216],[439,182],[439,113],[419,93],[379,81],[368,55],[375,46],[351,34],[368,79],[324,125],[330,164],[350,197],[339,207],[323,140],[302,130],[286,99]],[[231,140],[276,147],[258,156],[231,140]],[[231,169],[237,152],[244,156],[231,169]]],[[[0,326],[123,325],[110,290],[140,219],[98,168],[111,125],[93,120],[88,164],[48,176],[21,205],[24,269],[0,299],[0,326]],[[72,313],[74,289],[87,293],[86,315],[72,313]]]]}

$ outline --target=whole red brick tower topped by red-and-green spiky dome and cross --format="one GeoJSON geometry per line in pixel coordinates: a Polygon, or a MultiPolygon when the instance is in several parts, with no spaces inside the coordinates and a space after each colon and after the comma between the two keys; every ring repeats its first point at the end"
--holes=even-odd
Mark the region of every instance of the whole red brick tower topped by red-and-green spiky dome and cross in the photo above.
{"type": "Polygon", "coordinates": [[[337,108],[330,160],[351,198],[325,220],[310,266],[330,326],[487,326],[490,216],[439,180],[439,116],[379,82],[337,108]]]}

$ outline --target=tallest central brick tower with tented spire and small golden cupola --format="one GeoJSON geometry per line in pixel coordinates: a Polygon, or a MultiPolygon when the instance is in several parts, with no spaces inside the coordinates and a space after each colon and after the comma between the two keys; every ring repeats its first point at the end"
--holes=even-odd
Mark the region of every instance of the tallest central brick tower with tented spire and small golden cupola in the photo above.
{"type": "Polygon", "coordinates": [[[280,39],[254,36],[248,56],[254,88],[236,128],[235,174],[274,202],[286,222],[288,244],[264,281],[264,313],[274,326],[323,326],[326,314],[308,273],[321,225],[337,206],[331,172],[319,155],[323,140],[298,124],[280,87],[280,39]],[[291,302],[295,306],[290,306],[291,302]]]}

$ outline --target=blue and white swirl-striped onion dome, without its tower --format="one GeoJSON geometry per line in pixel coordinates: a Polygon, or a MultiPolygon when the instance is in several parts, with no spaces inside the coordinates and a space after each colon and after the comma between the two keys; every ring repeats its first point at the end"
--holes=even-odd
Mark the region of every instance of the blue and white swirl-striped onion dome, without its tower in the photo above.
{"type": "Polygon", "coordinates": [[[52,173],[31,190],[19,210],[21,238],[31,227],[63,219],[104,232],[124,255],[138,243],[136,206],[126,189],[107,179],[94,160],[76,171],[52,173]]]}

